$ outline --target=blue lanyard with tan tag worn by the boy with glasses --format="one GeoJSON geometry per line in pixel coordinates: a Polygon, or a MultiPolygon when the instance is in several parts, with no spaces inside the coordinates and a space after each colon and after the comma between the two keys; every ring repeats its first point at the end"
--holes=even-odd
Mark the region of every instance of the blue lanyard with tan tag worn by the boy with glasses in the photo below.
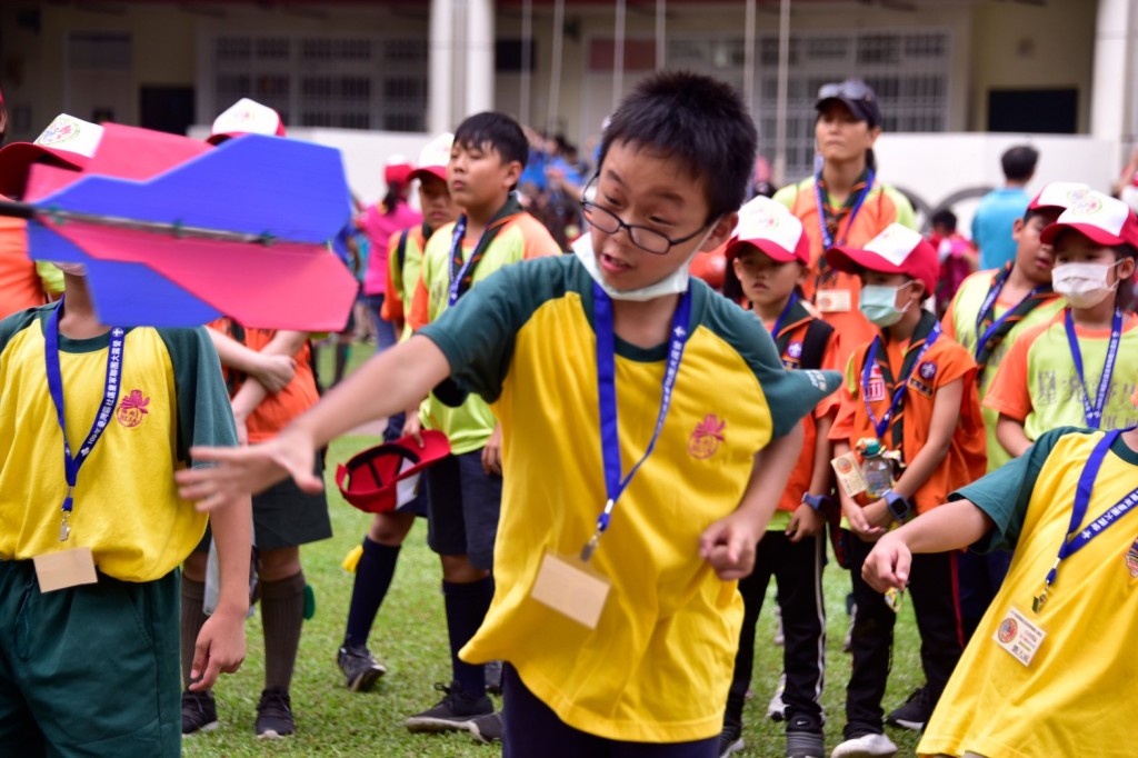
{"type": "Polygon", "coordinates": [[[655,420],[655,430],[649,440],[644,455],[621,478],[620,476],[620,442],[617,430],[617,368],[616,338],[612,328],[612,302],[597,285],[593,285],[593,321],[596,328],[596,378],[600,399],[601,419],[601,454],[604,461],[604,488],[608,500],[596,518],[596,529],[580,553],[561,555],[546,552],[542,558],[537,578],[530,595],[534,600],[549,605],[553,610],[571,618],[589,629],[595,629],[604,610],[611,584],[608,578],[596,571],[589,560],[596,552],[601,536],[608,530],[620,495],[628,487],[636,471],[648,460],[655,448],[655,442],[663,430],[663,421],[671,405],[671,393],[676,387],[679,373],[679,362],[684,356],[687,333],[692,315],[692,290],[684,293],[671,320],[671,331],[668,344],[668,360],[663,372],[663,388],[660,398],[660,413],[655,420]]]}

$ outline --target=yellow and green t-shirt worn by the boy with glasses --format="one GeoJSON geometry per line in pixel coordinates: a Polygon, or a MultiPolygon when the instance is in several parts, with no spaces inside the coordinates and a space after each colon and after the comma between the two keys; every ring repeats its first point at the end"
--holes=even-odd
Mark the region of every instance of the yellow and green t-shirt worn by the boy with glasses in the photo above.
{"type": "MultiPolygon", "coordinates": [[[[578,553],[607,497],[588,273],[570,256],[508,266],[421,332],[503,429],[496,590],[461,654],[508,660],[559,718],[608,739],[719,733],[743,602],[700,558],[700,534],[739,505],[754,454],[840,381],[786,370],[753,314],[692,289],[670,411],[592,561],[612,584],[595,629],[529,596],[543,554],[578,553]]],[[[616,352],[627,472],[655,428],[668,346],[617,337],[616,352]]]]}

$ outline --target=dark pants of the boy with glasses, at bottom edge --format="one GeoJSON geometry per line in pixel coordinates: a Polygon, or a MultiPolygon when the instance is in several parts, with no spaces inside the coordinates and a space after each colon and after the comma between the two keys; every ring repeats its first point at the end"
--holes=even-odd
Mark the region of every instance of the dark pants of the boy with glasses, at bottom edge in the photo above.
{"type": "Polygon", "coordinates": [[[694,742],[621,742],[576,730],[502,667],[502,758],[716,758],[719,736],[694,742]]]}

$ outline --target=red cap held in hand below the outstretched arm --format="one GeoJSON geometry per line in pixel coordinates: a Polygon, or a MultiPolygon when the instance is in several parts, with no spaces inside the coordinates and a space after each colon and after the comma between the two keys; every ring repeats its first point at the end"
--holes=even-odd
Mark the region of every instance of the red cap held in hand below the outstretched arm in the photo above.
{"type": "Polygon", "coordinates": [[[419,473],[451,453],[451,443],[442,431],[424,429],[422,440],[420,447],[414,437],[399,437],[337,465],[336,486],[344,500],[368,513],[394,511],[411,502],[419,473]]]}

